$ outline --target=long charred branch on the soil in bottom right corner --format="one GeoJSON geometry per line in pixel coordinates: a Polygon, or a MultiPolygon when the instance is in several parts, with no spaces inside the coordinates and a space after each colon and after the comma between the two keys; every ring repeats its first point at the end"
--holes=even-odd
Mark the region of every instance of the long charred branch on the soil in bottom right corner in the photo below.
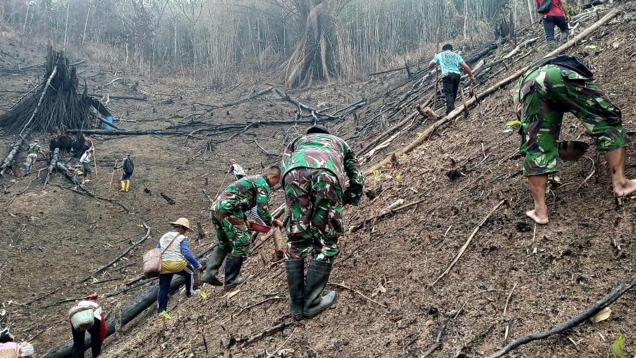
{"type": "Polygon", "coordinates": [[[544,331],[542,333],[530,334],[528,336],[517,338],[516,340],[506,345],[506,347],[503,347],[500,350],[497,350],[497,352],[487,355],[485,358],[502,357],[503,355],[507,354],[511,350],[521,345],[525,345],[527,343],[530,343],[531,341],[542,340],[543,338],[548,338],[549,336],[553,334],[561,333],[563,331],[567,331],[567,329],[578,326],[579,324],[590,319],[593,315],[600,312],[600,310],[602,310],[603,308],[614,303],[614,301],[619,299],[626,292],[630,291],[630,289],[632,289],[634,286],[636,286],[636,275],[633,275],[629,279],[625,280],[622,284],[619,284],[618,286],[614,287],[614,289],[612,289],[610,293],[605,295],[604,298],[601,298],[599,301],[597,301],[597,303],[592,305],[590,308],[588,308],[584,312],[579,313],[579,315],[572,317],[571,319],[563,322],[562,324],[557,324],[556,326],[552,327],[548,331],[544,331]]]}

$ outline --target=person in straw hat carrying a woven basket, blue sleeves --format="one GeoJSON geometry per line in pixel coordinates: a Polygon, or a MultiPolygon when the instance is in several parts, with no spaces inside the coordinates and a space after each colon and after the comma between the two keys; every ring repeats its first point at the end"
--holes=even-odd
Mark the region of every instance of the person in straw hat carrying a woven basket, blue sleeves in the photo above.
{"type": "Polygon", "coordinates": [[[188,237],[185,236],[188,231],[192,231],[190,221],[185,217],[179,217],[170,225],[172,230],[163,234],[156,247],[165,250],[162,254],[162,269],[159,275],[159,292],[157,293],[157,312],[159,313],[167,310],[168,292],[173,275],[184,277],[186,296],[191,296],[194,292],[194,272],[195,270],[203,270],[203,266],[190,253],[188,237]]]}

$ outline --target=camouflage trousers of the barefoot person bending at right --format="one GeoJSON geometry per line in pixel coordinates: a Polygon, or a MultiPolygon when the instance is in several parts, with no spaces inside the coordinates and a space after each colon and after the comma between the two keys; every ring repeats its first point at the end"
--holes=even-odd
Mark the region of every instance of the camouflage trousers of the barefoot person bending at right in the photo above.
{"type": "Polygon", "coordinates": [[[529,92],[522,93],[519,151],[525,156],[524,176],[556,172],[560,163],[556,140],[565,112],[581,120],[598,153],[627,146],[630,140],[623,129],[620,109],[593,81],[569,79],[557,67],[548,67],[542,76],[545,78],[537,78],[529,92]]]}

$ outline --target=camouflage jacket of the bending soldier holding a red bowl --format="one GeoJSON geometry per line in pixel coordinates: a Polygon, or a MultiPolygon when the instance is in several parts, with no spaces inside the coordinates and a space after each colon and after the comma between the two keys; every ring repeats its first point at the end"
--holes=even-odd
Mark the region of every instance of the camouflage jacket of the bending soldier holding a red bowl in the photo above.
{"type": "Polygon", "coordinates": [[[221,196],[212,203],[210,215],[214,215],[213,212],[244,213],[256,206],[263,223],[272,226],[272,215],[267,209],[269,198],[270,184],[265,176],[243,177],[225,188],[221,196]]]}

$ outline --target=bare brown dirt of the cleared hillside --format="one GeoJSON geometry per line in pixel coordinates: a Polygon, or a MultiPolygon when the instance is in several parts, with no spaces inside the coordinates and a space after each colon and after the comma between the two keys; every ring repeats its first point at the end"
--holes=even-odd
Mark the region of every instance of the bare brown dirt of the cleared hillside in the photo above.
{"type": "MultiPolygon", "coordinates": [[[[636,53],[636,22],[632,20],[635,15],[633,10],[625,11],[618,21],[602,27],[588,41],[570,51],[585,57],[593,65],[598,84],[623,110],[627,130],[636,130],[633,100],[636,80],[630,76],[636,69],[633,56],[636,53]]],[[[584,26],[589,24],[586,22],[584,26]]],[[[531,31],[541,36],[538,27],[531,31]]],[[[539,57],[546,51],[543,41],[530,51],[534,53],[522,63],[512,64],[477,90],[539,57]]],[[[488,62],[492,60],[491,57],[488,62]]],[[[89,71],[97,72],[96,65],[89,66],[89,71]]],[[[395,74],[382,81],[399,83],[403,81],[401,76],[403,74],[395,74]]],[[[113,78],[111,72],[91,80],[94,85],[103,85],[113,78]]],[[[134,83],[135,80],[134,76],[129,76],[125,82],[134,83]]],[[[172,88],[172,82],[162,81],[149,83],[142,80],[141,88],[148,92],[179,91],[172,88]]],[[[111,93],[130,91],[121,83],[114,86],[111,93]]],[[[165,127],[171,121],[187,121],[189,115],[204,113],[197,105],[192,111],[191,102],[229,102],[249,93],[251,86],[244,87],[247,88],[243,88],[243,93],[240,90],[214,95],[188,93],[174,104],[161,104],[165,98],[153,98],[149,102],[119,101],[113,107],[121,114],[129,112],[124,117],[130,120],[157,119],[137,123],[123,121],[122,127],[165,127]],[[177,113],[181,118],[160,120],[172,116],[163,113],[181,108],[185,108],[177,113]]],[[[361,95],[359,88],[361,92],[368,92],[368,88],[380,87],[380,80],[373,80],[363,84],[362,88],[338,84],[333,88],[310,88],[307,92],[296,92],[294,96],[306,99],[308,103],[329,100],[342,106],[361,95]]],[[[358,209],[348,209],[345,212],[347,226],[374,216],[399,199],[424,201],[409,210],[380,219],[373,227],[342,238],[342,254],[330,281],[351,287],[357,293],[331,286],[340,294],[333,308],[315,319],[303,321],[300,326],[289,326],[245,348],[237,347],[245,338],[290,322],[284,266],[281,263],[263,266],[257,252],[244,268],[254,277],[235,294],[228,295],[216,287],[204,287],[207,298],[185,299],[182,290],[170,298],[172,319],[163,320],[149,309],[135,324],[125,327],[122,336],[107,340],[104,357],[205,357],[218,354],[267,357],[268,352],[279,347],[293,349],[290,353],[293,357],[420,357],[445,323],[441,335],[443,346],[431,357],[455,357],[459,353],[480,357],[501,347],[507,326],[508,340],[511,340],[543,331],[583,311],[607,293],[616,280],[633,272],[635,204],[628,203],[615,209],[604,161],[601,160],[598,181],[597,177],[592,177],[579,189],[579,183],[591,170],[590,160],[565,163],[559,174],[564,184],[549,197],[551,223],[546,227],[537,226],[535,231],[524,214],[532,205],[532,198],[525,179],[518,175],[520,160],[510,158],[518,146],[518,135],[515,131],[504,132],[504,123],[515,118],[509,106],[509,89],[504,88],[474,107],[468,118],[458,118],[438,130],[416,151],[400,158],[399,168],[384,169],[379,177],[368,178],[367,189],[382,186],[382,195],[374,200],[365,198],[358,209]],[[452,169],[460,169],[465,176],[449,181],[446,174],[452,169]],[[495,210],[450,274],[429,287],[483,217],[504,199],[509,205],[495,210]],[[612,247],[612,240],[620,244],[621,251],[612,247]],[[457,310],[460,310],[457,318],[448,321],[457,310]],[[459,352],[464,345],[468,347],[459,352]]],[[[254,114],[268,118],[287,116],[291,107],[272,100],[264,98],[232,107],[227,110],[229,114],[226,110],[214,111],[214,116],[207,120],[215,123],[242,121],[245,116],[249,118],[254,114]]],[[[369,113],[374,106],[368,108],[369,113]]],[[[343,137],[356,137],[350,122],[341,129],[343,137]]],[[[378,128],[378,123],[375,126],[378,128]]],[[[424,128],[412,128],[397,139],[394,146],[378,153],[373,162],[415,139],[417,132],[424,128]]],[[[356,148],[381,132],[366,129],[368,133],[363,137],[351,139],[356,148]]],[[[285,130],[287,127],[265,127],[250,133],[263,139],[268,150],[280,151],[285,130]]],[[[299,127],[298,132],[301,130],[299,127]]],[[[569,116],[563,125],[562,138],[576,138],[581,132],[577,121],[569,116]]],[[[229,135],[218,139],[227,137],[229,135]]],[[[6,238],[15,238],[23,228],[26,230],[20,236],[18,246],[0,254],[0,262],[8,263],[4,267],[0,264],[3,290],[0,299],[14,313],[25,335],[45,330],[34,340],[39,343],[36,347],[40,352],[69,339],[68,329],[62,323],[69,303],[46,308],[47,304],[93,291],[107,293],[121,288],[123,282],[138,275],[142,252],[156,244],[158,235],[166,230],[165,223],[173,217],[188,216],[193,221],[200,221],[206,231],[212,231],[206,219],[209,204],[201,190],[214,195],[223,174],[214,172],[207,186],[199,175],[213,169],[225,169],[230,157],[236,157],[244,167],[254,167],[252,170],[258,170],[261,161],[275,162],[247,142],[249,138],[235,137],[214,146],[211,153],[196,158],[202,141],[184,141],[183,137],[97,139],[99,159],[108,162],[103,162],[103,168],[98,167],[100,174],[90,183],[90,188],[100,195],[122,200],[134,214],[122,213],[116,205],[88,200],[55,185],[45,191],[38,187],[17,196],[9,208],[17,217],[1,216],[8,233],[6,238]],[[109,192],[112,163],[131,148],[137,168],[133,189],[120,195],[114,182],[109,192]],[[142,191],[145,187],[151,189],[152,195],[142,191]],[[169,205],[158,196],[160,192],[175,198],[176,204],[169,205]],[[135,262],[136,265],[123,268],[121,273],[111,269],[99,275],[100,280],[118,278],[112,282],[91,286],[73,284],[123,251],[128,245],[126,239],[134,241],[141,237],[143,230],[139,224],[142,220],[149,223],[153,231],[151,239],[127,256],[125,263],[135,262]],[[72,235],[77,236],[68,237],[72,235]],[[63,274],[51,275],[51,272],[63,274]],[[10,300],[24,303],[56,288],[58,291],[31,307],[7,303],[10,300]],[[42,318],[36,320],[37,317],[42,318]]],[[[9,141],[6,139],[5,143],[9,141]]],[[[631,177],[636,176],[635,149],[635,144],[630,144],[627,172],[631,177]]],[[[588,155],[595,159],[593,152],[588,155]]],[[[19,175],[17,179],[20,179],[17,184],[5,190],[8,191],[3,195],[6,201],[22,191],[28,182],[19,175]]],[[[56,180],[56,183],[66,184],[60,178],[56,180]]],[[[1,179],[0,183],[5,187],[12,184],[10,179],[1,179]]],[[[281,201],[282,193],[278,191],[273,195],[272,207],[281,201]]],[[[193,245],[194,251],[200,252],[214,242],[214,235],[210,234],[200,244],[193,245]]],[[[130,296],[122,294],[107,299],[104,306],[107,310],[114,309],[129,299],[130,296]]],[[[607,357],[612,340],[621,333],[628,333],[624,356],[630,357],[636,354],[636,345],[629,338],[636,328],[632,313],[634,299],[633,292],[625,294],[612,305],[614,312],[609,320],[583,324],[567,334],[531,343],[515,353],[523,357],[607,357]],[[568,338],[576,342],[577,347],[568,338]]]]}

